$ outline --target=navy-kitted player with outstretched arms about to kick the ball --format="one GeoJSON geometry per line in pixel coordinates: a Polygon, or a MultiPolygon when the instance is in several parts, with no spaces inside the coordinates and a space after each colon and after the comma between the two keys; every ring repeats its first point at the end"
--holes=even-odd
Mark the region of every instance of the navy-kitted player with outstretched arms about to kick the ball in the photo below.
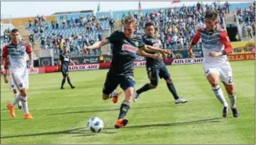
{"type": "Polygon", "coordinates": [[[108,38],[103,39],[101,42],[96,42],[84,50],[86,53],[88,49],[100,48],[109,43],[113,45],[112,63],[103,88],[103,100],[112,97],[113,102],[117,103],[121,91],[115,91],[115,88],[120,85],[124,90],[125,100],[121,104],[118,121],[115,123],[115,128],[117,129],[126,126],[128,123],[128,120],[124,119],[124,117],[129,111],[129,105],[132,102],[134,92],[133,68],[136,54],[153,59],[159,59],[160,57],[157,54],[147,54],[144,50],[171,54],[167,50],[147,47],[147,45],[144,45],[141,37],[133,36],[135,20],[132,17],[125,19],[124,25],[124,32],[117,30],[108,38]]]}

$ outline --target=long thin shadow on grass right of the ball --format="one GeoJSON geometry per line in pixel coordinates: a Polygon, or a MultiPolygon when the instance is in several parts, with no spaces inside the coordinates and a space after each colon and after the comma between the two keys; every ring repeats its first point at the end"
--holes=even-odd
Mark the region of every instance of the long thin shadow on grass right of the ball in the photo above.
{"type": "MultiPolygon", "coordinates": [[[[125,129],[140,129],[140,128],[147,128],[147,127],[164,127],[164,126],[183,126],[183,125],[189,125],[189,124],[196,124],[196,123],[218,123],[219,119],[222,119],[222,117],[216,117],[212,119],[205,119],[205,120],[195,120],[195,121],[187,121],[187,122],[181,122],[181,123],[162,123],[162,124],[145,124],[145,125],[139,125],[139,126],[126,126],[125,129]]],[[[105,128],[105,129],[112,129],[112,128],[105,128]]]]}

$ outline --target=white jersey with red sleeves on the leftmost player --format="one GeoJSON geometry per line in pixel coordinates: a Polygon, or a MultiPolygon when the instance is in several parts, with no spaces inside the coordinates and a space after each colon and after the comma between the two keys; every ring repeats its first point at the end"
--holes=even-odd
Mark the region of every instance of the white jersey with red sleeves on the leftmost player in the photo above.
{"type": "Polygon", "coordinates": [[[27,42],[19,42],[17,45],[10,43],[4,46],[2,57],[7,58],[7,56],[9,56],[9,69],[11,72],[22,73],[27,70],[26,55],[30,53],[31,48],[27,42]]]}

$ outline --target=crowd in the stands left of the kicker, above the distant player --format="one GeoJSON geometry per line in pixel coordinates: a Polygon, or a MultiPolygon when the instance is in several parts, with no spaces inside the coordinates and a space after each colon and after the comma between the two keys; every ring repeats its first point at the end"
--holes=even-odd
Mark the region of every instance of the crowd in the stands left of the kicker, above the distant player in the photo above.
{"type": "MultiPolygon", "coordinates": [[[[107,16],[102,16],[99,19],[96,16],[87,15],[71,19],[61,17],[61,20],[47,22],[44,16],[37,16],[34,19],[34,24],[30,19],[28,29],[31,30],[29,40],[34,44],[35,39],[40,41],[40,48],[54,49],[55,54],[58,54],[60,49],[67,46],[71,54],[80,54],[82,48],[94,44],[94,42],[103,39],[104,29],[113,28],[114,21],[107,16]],[[104,28],[103,28],[103,27],[104,28]],[[46,30],[49,32],[46,35],[46,30]],[[57,33],[51,33],[55,32],[57,33]],[[64,35],[61,32],[70,30],[70,33],[64,35]]],[[[88,55],[100,55],[101,50],[91,50],[88,55]]]]}

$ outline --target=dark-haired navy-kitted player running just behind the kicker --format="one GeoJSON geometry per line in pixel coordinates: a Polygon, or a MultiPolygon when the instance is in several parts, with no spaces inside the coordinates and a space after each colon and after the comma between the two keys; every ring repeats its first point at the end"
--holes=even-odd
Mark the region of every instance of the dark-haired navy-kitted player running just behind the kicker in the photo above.
{"type": "MultiPolygon", "coordinates": [[[[153,27],[152,22],[146,23],[145,33],[146,35],[144,35],[142,39],[146,45],[153,46],[154,48],[161,48],[161,42],[155,36],[155,28],[153,27]]],[[[152,52],[150,54],[159,54],[159,52],[152,52]]],[[[169,91],[171,91],[171,94],[175,99],[175,103],[188,102],[187,100],[184,100],[183,98],[180,98],[178,96],[176,88],[174,87],[174,83],[172,83],[171,75],[168,69],[166,68],[165,63],[162,62],[162,58],[152,59],[150,57],[147,57],[146,66],[147,66],[147,75],[148,75],[148,78],[150,79],[150,83],[145,84],[144,86],[142,86],[136,91],[135,98],[133,100],[134,102],[137,101],[139,94],[141,94],[142,92],[156,88],[156,86],[158,85],[159,77],[165,79],[168,89],[169,91]]]]}

